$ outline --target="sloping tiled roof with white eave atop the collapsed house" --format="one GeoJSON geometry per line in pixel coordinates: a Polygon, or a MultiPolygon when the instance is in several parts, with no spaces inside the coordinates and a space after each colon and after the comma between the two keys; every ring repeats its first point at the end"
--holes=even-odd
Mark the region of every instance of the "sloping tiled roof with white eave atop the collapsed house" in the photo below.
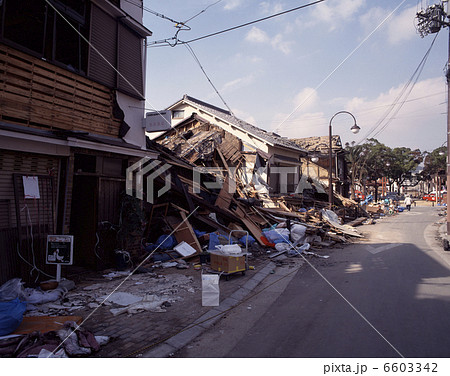
{"type": "Polygon", "coordinates": [[[286,137],[282,137],[276,133],[268,132],[265,131],[264,129],[258,128],[250,123],[238,119],[230,111],[224,110],[223,108],[216,107],[209,103],[190,97],[186,94],[183,96],[181,100],[169,106],[167,109],[170,110],[181,103],[186,103],[188,105],[201,109],[202,111],[205,111],[212,116],[215,116],[229,124],[232,124],[233,126],[238,127],[240,130],[249,133],[254,137],[258,137],[271,145],[288,148],[291,150],[295,150],[297,152],[306,153],[306,150],[304,150],[301,146],[297,145],[295,142],[292,142],[286,137]]]}

